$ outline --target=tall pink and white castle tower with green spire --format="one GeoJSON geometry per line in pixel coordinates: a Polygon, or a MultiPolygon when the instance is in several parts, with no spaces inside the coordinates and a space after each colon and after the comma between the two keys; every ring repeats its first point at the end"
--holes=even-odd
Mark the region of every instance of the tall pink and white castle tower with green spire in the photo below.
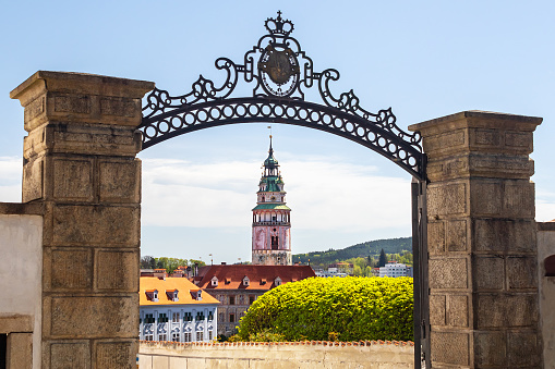
{"type": "Polygon", "coordinates": [[[278,161],[274,158],[272,135],[258,187],[257,205],[253,209],[252,263],[291,266],[291,209],[286,205],[283,181],[278,161]]]}

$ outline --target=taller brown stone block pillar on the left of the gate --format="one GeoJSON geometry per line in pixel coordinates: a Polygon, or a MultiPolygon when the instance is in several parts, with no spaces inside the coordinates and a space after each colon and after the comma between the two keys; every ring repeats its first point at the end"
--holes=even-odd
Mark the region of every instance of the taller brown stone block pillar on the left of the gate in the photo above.
{"type": "Polygon", "coordinates": [[[23,201],[41,201],[43,368],[131,368],[138,336],[141,99],[154,84],[37,72],[23,201]]]}

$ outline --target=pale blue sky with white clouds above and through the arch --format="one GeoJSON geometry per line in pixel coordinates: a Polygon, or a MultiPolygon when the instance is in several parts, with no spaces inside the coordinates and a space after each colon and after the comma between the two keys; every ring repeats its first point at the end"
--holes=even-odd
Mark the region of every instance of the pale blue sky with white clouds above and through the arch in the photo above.
{"type": "MultiPolygon", "coordinates": [[[[21,200],[23,109],[9,93],[37,70],[153,81],[173,95],[218,57],[241,62],[279,9],[315,71],[401,128],[463,110],[542,116],[534,152],[536,219],[555,218],[555,4],[548,1],[2,1],[0,201],[21,200]]],[[[239,91],[248,91],[239,87],[239,91]]],[[[251,209],[267,124],[200,131],[140,153],[142,250],[250,260],[251,209]]],[[[410,235],[410,176],[343,138],[273,126],[293,253],[410,235]]]]}

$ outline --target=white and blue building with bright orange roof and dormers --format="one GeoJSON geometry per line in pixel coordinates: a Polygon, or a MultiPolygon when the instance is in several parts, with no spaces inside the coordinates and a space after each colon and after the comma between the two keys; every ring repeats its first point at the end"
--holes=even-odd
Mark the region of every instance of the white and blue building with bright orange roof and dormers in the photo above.
{"type": "Polygon", "coordinates": [[[219,302],[186,278],[141,276],[140,340],[216,340],[219,302]]]}

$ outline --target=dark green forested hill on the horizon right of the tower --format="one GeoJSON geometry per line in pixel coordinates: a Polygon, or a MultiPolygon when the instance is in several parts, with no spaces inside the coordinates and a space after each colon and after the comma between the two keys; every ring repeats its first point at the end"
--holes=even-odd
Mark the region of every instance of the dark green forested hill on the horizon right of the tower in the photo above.
{"type": "Polygon", "coordinates": [[[327,251],[313,251],[293,255],[293,262],[311,265],[328,265],[351,258],[378,257],[382,248],[386,254],[400,254],[403,250],[412,253],[412,237],[369,241],[342,249],[328,249],[327,251]]]}

